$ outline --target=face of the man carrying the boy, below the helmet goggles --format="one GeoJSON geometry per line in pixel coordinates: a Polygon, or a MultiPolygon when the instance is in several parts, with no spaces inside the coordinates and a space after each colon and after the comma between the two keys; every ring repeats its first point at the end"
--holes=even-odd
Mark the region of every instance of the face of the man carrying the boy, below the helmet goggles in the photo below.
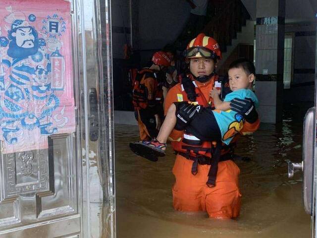
{"type": "Polygon", "coordinates": [[[190,59],[189,68],[195,77],[210,75],[214,70],[214,61],[210,58],[192,58],[190,59]]]}

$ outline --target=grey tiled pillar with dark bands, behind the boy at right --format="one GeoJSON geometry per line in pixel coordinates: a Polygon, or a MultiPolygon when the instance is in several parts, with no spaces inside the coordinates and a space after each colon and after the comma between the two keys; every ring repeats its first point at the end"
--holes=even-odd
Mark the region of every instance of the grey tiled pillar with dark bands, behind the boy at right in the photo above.
{"type": "Polygon", "coordinates": [[[285,0],[257,0],[256,94],[260,119],[282,120],[285,0]]]}

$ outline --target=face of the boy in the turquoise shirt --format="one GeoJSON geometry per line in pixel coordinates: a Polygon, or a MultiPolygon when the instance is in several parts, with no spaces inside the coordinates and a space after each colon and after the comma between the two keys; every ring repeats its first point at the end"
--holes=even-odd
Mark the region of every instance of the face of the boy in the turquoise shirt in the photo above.
{"type": "Polygon", "coordinates": [[[231,91],[236,91],[242,88],[251,88],[254,80],[254,74],[247,75],[242,67],[230,68],[229,75],[229,87],[231,91]]]}

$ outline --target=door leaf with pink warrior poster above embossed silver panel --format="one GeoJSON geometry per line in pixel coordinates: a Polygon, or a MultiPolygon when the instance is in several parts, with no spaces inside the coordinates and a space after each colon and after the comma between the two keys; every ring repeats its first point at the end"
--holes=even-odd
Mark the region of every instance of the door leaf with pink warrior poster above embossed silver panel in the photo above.
{"type": "Polygon", "coordinates": [[[71,4],[9,0],[1,9],[1,237],[81,231],[71,4]]]}

